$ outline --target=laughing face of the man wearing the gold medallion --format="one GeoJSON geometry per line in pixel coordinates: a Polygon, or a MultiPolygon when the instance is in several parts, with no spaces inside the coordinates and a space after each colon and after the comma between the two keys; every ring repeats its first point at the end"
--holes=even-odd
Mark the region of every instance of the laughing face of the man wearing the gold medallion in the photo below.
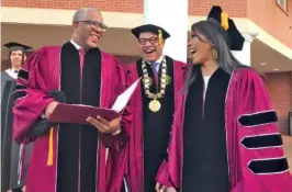
{"type": "Polygon", "coordinates": [[[145,60],[156,61],[161,57],[165,43],[161,45],[158,44],[158,35],[150,32],[143,32],[139,34],[138,43],[145,60]]]}

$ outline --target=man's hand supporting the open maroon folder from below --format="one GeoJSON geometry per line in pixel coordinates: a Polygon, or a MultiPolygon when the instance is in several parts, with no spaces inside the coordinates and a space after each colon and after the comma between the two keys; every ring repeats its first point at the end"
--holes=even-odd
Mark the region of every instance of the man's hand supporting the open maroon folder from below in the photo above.
{"type": "Polygon", "coordinates": [[[115,134],[121,131],[121,116],[111,122],[101,116],[97,116],[97,118],[89,116],[87,122],[98,128],[99,132],[104,134],[115,134]]]}

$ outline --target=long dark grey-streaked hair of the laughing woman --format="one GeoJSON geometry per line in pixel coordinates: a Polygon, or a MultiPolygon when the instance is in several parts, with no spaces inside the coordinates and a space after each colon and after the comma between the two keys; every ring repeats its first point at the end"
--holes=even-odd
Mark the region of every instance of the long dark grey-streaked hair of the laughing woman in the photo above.
{"type": "MultiPolygon", "coordinates": [[[[199,21],[192,25],[191,30],[193,33],[204,36],[206,42],[213,45],[218,54],[217,64],[227,74],[232,74],[238,68],[249,68],[248,66],[245,66],[238,61],[232,54],[228,47],[231,39],[223,27],[221,27],[220,23],[214,19],[199,21]]],[[[188,90],[190,84],[195,80],[196,71],[199,71],[195,70],[196,68],[200,68],[200,65],[189,64],[184,90],[188,90]]]]}

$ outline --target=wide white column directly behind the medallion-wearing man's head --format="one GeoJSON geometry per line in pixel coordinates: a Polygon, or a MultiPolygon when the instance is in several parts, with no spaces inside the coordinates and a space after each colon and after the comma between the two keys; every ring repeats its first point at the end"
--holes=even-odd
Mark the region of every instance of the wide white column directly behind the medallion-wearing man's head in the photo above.
{"type": "Polygon", "coordinates": [[[187,61],[188,4],[188,0],[144,0],[144,23],[170,34],[164,54],[180,61],[187,61]]]}

